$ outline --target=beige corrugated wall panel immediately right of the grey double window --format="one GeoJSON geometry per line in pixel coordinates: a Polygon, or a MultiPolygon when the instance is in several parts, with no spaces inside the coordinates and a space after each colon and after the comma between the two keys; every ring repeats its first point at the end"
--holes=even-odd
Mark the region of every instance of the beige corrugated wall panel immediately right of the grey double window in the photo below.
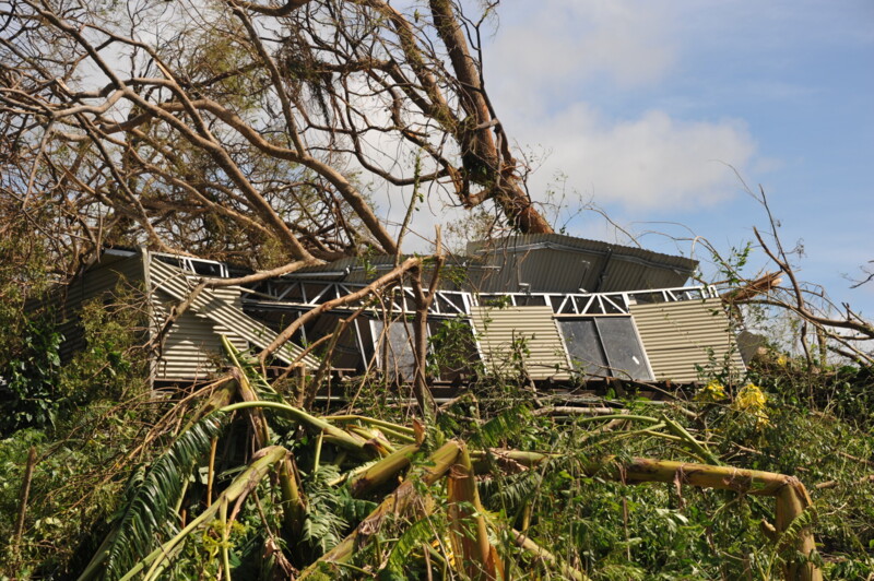
{"type": "Polygon", "coordinates": [[[734,372],[744,370],[718,298],[634,305],[631,316],[657,380],[697,381],[701,378],[696,365],[713,371],[725,365],[734,372]]]}

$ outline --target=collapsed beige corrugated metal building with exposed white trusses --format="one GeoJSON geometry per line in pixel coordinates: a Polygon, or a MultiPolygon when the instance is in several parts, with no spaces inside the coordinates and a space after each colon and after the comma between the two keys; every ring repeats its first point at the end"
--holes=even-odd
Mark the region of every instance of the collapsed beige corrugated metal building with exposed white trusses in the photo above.
{"type": "MultiPolygon", "coordinates": [[[[743,370],[712,289],[683,286],[696,266],[692,260],[558,235],[471,245],[470,254],[450,261],[428,315],[434,380],[463,381],[477,368],[557,382],[604,377],[690,382],[699,379],[697,366],[708,363],[743,370]]],[[[363,287],[394,260],[344,259],[248,287],[203,288],[169,328],[153,379],[204,379],[221,361],[221,335],[239,348],[263,348],[302,313],[363,287]]],[[[147,334],[154,336],[200,281],[240,274],[212,261],[107,250],[70,286],[67,311],[74,313],[84,300],[127,281],[149,296],[147,334]]],[[[333,369],[343,375],[379,369],[409,381],[414,308],[411,289],[398,286],[376,306],[326,312],[304,325],[274,363],[300,360],[316,368],[318,352],[305,354],[304,346],[333,336],[333,369]]],[[[81,348],[75,317],[64,324],[64,349],[81,348]]]]}

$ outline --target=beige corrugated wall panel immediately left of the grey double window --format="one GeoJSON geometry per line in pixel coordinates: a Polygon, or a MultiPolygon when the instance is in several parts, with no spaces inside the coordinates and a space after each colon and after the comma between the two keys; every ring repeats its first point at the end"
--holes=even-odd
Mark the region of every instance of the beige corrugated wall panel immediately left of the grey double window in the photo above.
{"type": "Polygon", "coordinates": [[[551,307],[473,307],[471,319],[489,371],[515,375],[513,349],[521,341],[527,352],[521,363],[532,379],[570,377],[570,361],[551,307]]]}

